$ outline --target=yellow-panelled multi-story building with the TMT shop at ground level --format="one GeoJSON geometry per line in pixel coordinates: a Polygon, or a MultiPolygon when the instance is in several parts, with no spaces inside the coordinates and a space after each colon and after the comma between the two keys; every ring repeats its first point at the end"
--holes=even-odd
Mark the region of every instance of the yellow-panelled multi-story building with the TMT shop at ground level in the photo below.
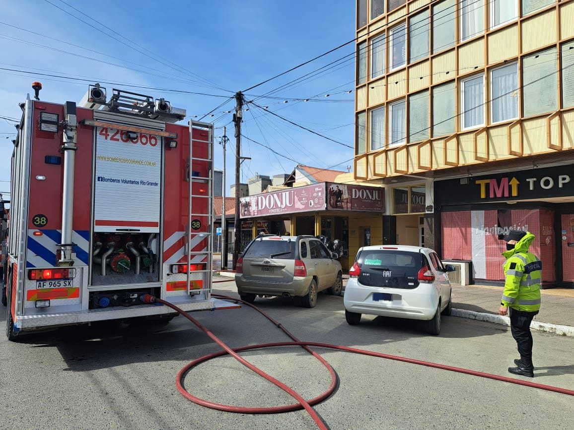
{"type": "Polygon", "coordinates": [[[386,188],[385,243],[502,280],[528,229],[574,285],[574,1],[358,0],[355,179],[386,188]]]}

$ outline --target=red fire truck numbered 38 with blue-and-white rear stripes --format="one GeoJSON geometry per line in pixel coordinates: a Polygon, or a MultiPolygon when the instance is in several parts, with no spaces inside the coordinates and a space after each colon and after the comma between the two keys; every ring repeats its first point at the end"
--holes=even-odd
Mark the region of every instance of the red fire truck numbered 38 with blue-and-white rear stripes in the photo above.
{"type": "Polygon", "coordinates": [[[213,125],[165,99],[90,85],[20,104],[11,160],[7,337],[236,307],[211,297],[213,125]]]}

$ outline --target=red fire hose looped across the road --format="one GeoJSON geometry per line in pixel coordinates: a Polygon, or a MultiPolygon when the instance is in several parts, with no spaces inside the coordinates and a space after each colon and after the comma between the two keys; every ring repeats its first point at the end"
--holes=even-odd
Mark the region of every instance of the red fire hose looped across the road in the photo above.
{"type": "Polygon", "coordinates": [[[482,378],[489,378],[489,379],[493,379],[493,380],[497,380],[497,381],[510,382],[511,384],[525,385],[525,386],[529,386],[532,388],[538,388],[538,389],[542,389],[542,390],[547,390],[547,391],[552,391],[552,392],[561,393],[561,394],[568,394],[569,396],[574,396],[574,390],[568,390],[565,388],[560,388],[560,387],[556,387],[556,386],[552,386],[552,385],[537,384],[536,382],[523,381],[523,380],[519,380],[516,378],[510,378],[510,377],[506,377],[506,376],[495,375],[492,373],[485,373],[485,372],[478,372],[476,370],[457,368],[454,366],[447,366],[447,365],[443,365],[443,364],[439,364],[439,363],[432,363],[432,362],[417,360],[417,359],[413,359],[413,358],[400,357],[398,355],[376,353],[374,351],[367,351],[367,350],[363,350],[363,349],[351,348],[348,346],[332,345],[330,343],[301,342],[299,339],[294,337],[294,335],[291,334],[289,332],[289,330],[285,329],[285,327],[282,326],[280,322],[277,322],[275,319],[272,318],[272,316],[267,315],[266,312],[262,311],[257,306],[254,306],[251,303],[247,303],[241,299],[236,299],[236,298],[229,297],[229,296],[212,294],[212,297],[215,297],[218,299],[224,299],[224,300],[232,300],[234,302],[239,302],[239,303],[246,304],[247,306],[250,306],[251,308],[258,311],[261,315],[265,316],[265,318],[269,319],[279,329],[284,331],[284,333],[286,335],[288,335],[289,338],[293,339],[293,342],[261,343],[259,345],[243,346],[240,348],[233,348],[232,349],[231,347],[227,346],[223,341],[221,341],[218,337],[216,337],[215,334],[211,333],[211,331],[209,329],[207,329],[207,327],[205,327],[199,321],[197,321],[195,318],[193,318],[193,316],[191,316],[187,312],[181,310],[179,307],[175,306],[174,304],[166,302],[165,300],[155,298],[154,296],[151,296],[151,295],[146,294],[145,296],[143,296],[142,301],[144,301],[145,303],[153,303],[153,302],[162,303],[162,304],[165,304],[165,306],[169,306],[174,311],[179,312],[181,315],[185,316],[185,318],[189,319],[195,326],[197,326],[197,328],[199,328],[201,331],[203,331],[203,333],[207,334],[215,343],[217,343],[220,347],[223,348],[223,351],[219,351],[218,353],[204,355],[204,357],[197,358],[197,359],[193,360],[192,362],[188,363],[186,366],[184,366],[183,369],[180,370],[180,372],[177,374],[177,377],[176,377],[177,390],[179,390],[179,392],[184,397],[188,398],[188,400],[191,400],[192,402],[194,402],[198,405],[206,406],[207,408],[218,409],[219,411],[226,411],[226,412],[253,413],[253,414],[292,412],[292,411],[297,411],[299,409],[305,409],[305,411],[307,411],[309,413],[309,415],[312,417],[312,419],[315,421],[315,423],[317,424],[317,427],[319,427],[320,429],[326,430],[328,428],[327,425],[324,423],[324,421],[321,419],[321,417],[317,414],[317,412],[315,412],[315,410],[312,408],[312,406],[320,403],[321,401],[325,400],[327,397],[331,396],[331,394],[333,393],[333,391],[336,388],[336,385],[338,382],[338,376],[335,373],[335,370],[332,368],[332,366],[323,357],[321,357],[321,355],[317,354],[315,351],[310,349],[309,346],[335,349],[335,350],[339,350],[339,351],[347,351],[347,352],[354,353],[354,354],[371,355],[372,357],[387,358],[387,359],[391,359],[391,360],[395,360],[395,361],[402,361],[402,362],[417,364],[417,365],[421,365],[421,366],[428,366],[430,368],[450,370],[451,372],[465,373],[468,375],[479,376],[482,378]],[[242,352],[242,351],[249,351],[249,350],[261,349],[261,348],[269,348],[269,347],[274,347],[274,346],[301,346],[303,349],[308,351],[309,354],[312,354],[313,357],[317,358],[323,364],[323,366],[325,366],[325,368],[327,368],[327,370],[331,374],[331,384],[329,385],[329,388],[327,390],[325,390],[325,392],[323,394],[321,394],[320,396],[312,398],[311,400],[305,400],[295,390],[293,390],[289,386],[283,384],[283,382],[278,381],[276,378],[270,376],[269,374],[263,372],[263,370],[258,369],[257,367],[255,367],[253,364],[251,364],[249,361],[247,361],[245,358],[241,357],[241,355],[238,354],[239,352],[242,352]],[[284,405],[284,406],[271,406],[271,407],[266,407],[266,408],[252,408],[252,407],[245,407],[245,406],[223,405],[223,404],[210,402],[210,401],[204,400],[202,398],[193,396],[193,394],[189,393],[183,387],[183,379],[185,377],[185,374],[187,372],[189,372],[189,370],[191,370],[195,366],[199,365],[200,363],[203,363],[205,361],[209,361],[212,358],[221,357],[222,355],[226,355],[226,354],[231,355],[237,361],[242,363],[242,365],[246,366],[250,370],[253,370],[253,372],[257,373],[259,376],[262,376],[267,381],[272,382],[274,385],[278,386],[279,388],[284,390],[286,393],[290,394],[292,397],[295,398],[295,400],[297,400],[298,403],[294,403],[291,405],[284,405]]]}

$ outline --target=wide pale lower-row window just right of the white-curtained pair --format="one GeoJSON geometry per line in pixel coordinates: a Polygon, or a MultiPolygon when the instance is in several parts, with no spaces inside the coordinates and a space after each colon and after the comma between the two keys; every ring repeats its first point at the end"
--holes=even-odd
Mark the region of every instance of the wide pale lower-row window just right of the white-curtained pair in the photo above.
{"type": "Polygon", "coordinates": [[[556,111],[556,48],[522,58],[522,108],[524,116],[556,111]]]}

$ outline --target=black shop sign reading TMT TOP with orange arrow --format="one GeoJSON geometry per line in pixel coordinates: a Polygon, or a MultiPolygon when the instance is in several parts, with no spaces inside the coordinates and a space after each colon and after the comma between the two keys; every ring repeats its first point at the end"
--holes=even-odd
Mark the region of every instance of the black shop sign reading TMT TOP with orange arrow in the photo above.
{"type": "Polygon", "coordinates": [[[435,182],[436,205],[574,196],[572,165],[435,182]]]}

